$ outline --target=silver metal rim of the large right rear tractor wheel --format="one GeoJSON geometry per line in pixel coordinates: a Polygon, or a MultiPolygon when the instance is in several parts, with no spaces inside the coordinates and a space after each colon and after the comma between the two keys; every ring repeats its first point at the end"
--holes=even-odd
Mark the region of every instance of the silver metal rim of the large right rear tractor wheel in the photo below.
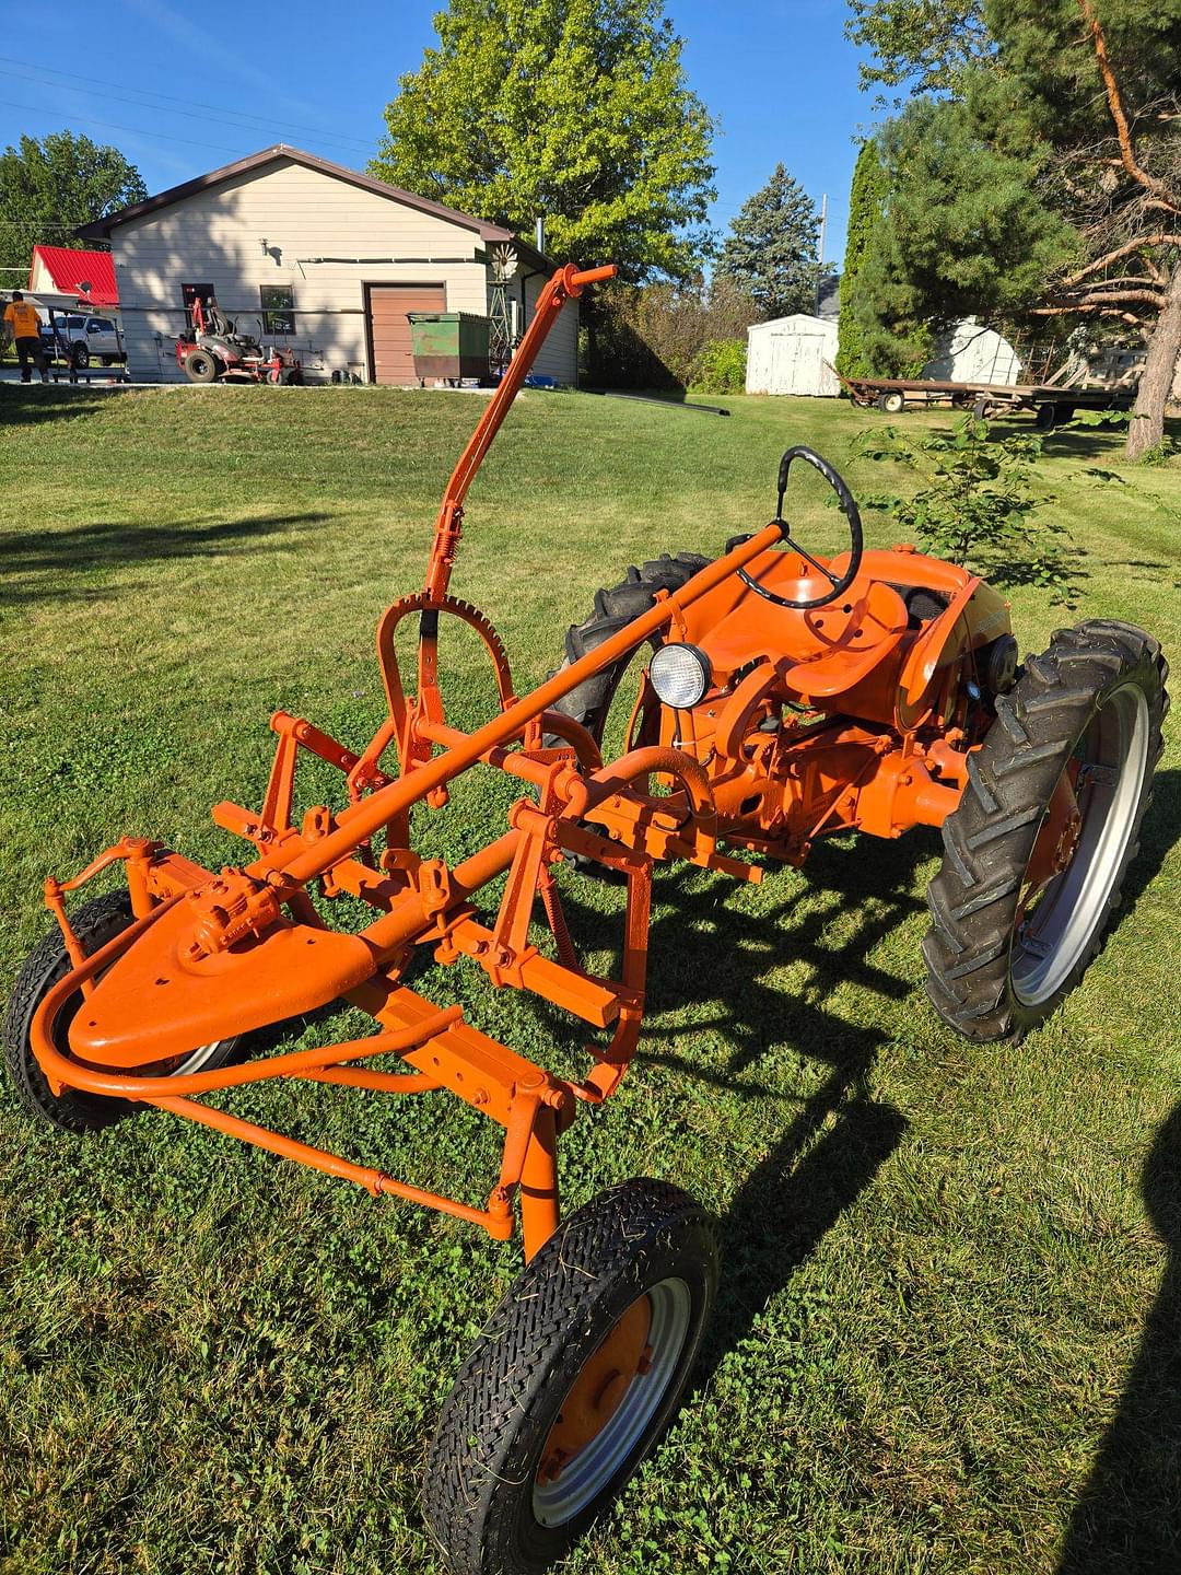
{"type": "Polygon", "coordinates": [[[1148,739],[1145,691],[1121,684],[1074,748],[1080,810],[1074,850],[1066,868],[1028,899],[1030,912],[1009,951],[1013,991],[1025,1006],[1039,1006],[1061,989],[1104,921],[1143,795],[1148,739]]]}

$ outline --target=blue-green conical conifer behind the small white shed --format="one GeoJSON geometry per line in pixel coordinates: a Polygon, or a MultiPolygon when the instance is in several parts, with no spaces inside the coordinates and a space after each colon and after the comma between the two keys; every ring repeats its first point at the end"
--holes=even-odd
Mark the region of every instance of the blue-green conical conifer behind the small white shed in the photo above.
{"type": "Polygon", "coordinates": [[[764,321],[811,312],[817,258],[816,203],[783,164],[748,197],[731,224],[715,277],[748,291],[764,321]]]}

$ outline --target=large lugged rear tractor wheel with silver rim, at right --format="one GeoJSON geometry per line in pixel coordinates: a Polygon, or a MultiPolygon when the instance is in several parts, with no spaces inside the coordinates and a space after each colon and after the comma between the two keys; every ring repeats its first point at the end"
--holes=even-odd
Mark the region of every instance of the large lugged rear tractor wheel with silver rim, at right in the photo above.
{"type": "Polygon", "coordinates": [[[998,696],[927,890],[927,994],[965,1038],[1024,1038],[1099,953],[1151,802],[1167,676],[1151,635],[1091,619],[998,696]]]}

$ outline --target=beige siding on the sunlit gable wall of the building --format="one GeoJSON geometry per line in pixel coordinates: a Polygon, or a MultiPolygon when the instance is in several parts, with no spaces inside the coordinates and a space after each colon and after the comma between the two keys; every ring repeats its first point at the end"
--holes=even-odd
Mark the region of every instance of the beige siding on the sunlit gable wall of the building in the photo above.
{"type": "Polygon", "coordinates": [[[173,353],[184,324],[181,284],[213,284],[227,315],[250,332],[261,317],[260,285],[290,285],[296,332],[283,343],[320,376],[368,376],[365,284],[436,284],[449,310],[488,310],[474,230],[287,159],[123,224],[112,246],[131,373],[151,381],[183,376],[173,353]]]}

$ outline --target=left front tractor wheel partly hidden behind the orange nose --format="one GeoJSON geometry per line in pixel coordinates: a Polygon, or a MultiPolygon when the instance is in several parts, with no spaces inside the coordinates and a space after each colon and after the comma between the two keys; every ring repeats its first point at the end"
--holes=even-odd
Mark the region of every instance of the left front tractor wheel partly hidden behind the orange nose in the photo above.
{"type": "MultiPolygon", "coordinates": [[[[83,950],[91,956],[99,947],[106,947],[115,936],[123,934],[132,920],[134,915],[128,893],[109,891],[93,902],[83,902],[72,915],[71,925],[83,950]]],[[[28,1030],[36,1008],[72,967],[74,964],[66,953],[61,931],[54,925],[44,940],[30,951],[13,986],[5,1017],[5,1062],[13,1085],[25,1107],[50,1126],[57,1126],[58,1131],[72,1132],[77,1137],[82,1132],[94,1132],[99,1128],[110,1126],[113,1121],[132,1115],[143,1107],[131,1099],[82,1093],[77,1088],[63,1088],[60,1095],[55,1095],[49,1087],[46,1074],[41,1071],[33,1054],[28,1030]]],[[[79,991],[58,1013],[54,1038],[57,1047],[63,1052],[68,1049],[66,1035],[69,1022],[82,1005],[82,991],[79,991]]],[[[187,1055],[157,1062],[153,1066],[137,1066],[135,1076],[150,1077],[153,1073],[164,1076],[165,1073],[213,1071],[216,1066],[225,1066],[238,1040],[219,1040],[214,1044],[203,1044],[187,1055]]]]}

